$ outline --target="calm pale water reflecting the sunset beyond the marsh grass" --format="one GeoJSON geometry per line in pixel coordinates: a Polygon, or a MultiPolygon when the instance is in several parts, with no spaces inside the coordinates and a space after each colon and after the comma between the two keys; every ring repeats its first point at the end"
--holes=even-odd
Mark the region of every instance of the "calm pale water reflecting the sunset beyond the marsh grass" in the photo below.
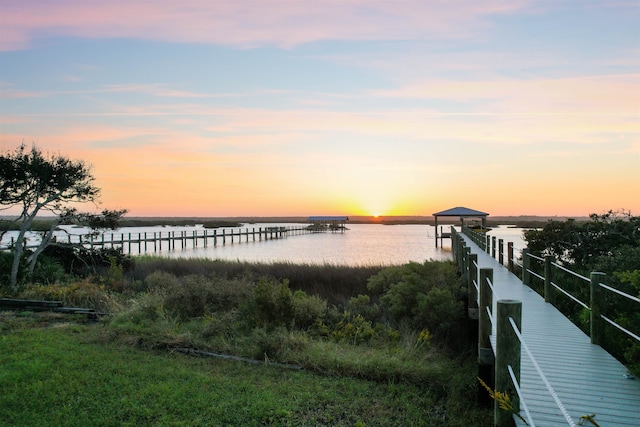
{"type": "MultiPolygon", "coordinates": [[[[286,226],[300,224],[250,224],[242,229],[256,230],[260,227],[286,226]]],[[[410,261],[423,262],[425,260],[446,260],[451,259],[451,241],[444,240],[444,249],[435,248],[435,229],[429,225],[379,225],[379,224],[347,224],[348,231],[344,233],[315,233],[305,235],[293,235],[283,239],[252,241],[238,243],[238,238],[234,243],[223,245],[221,239],[218,245],[213,246],[213,240],[209,240],[206,248],[203,247],[202,240],[198,242],[199,247],[193,248],[191,241],[186,242],[186,248],[180,249],[180,243],[176,242],[175,250],[168,250],[167,242],[163,242],[163,250],[154,252],[153,244],[147,244],[148,254],[156,254],[170,258],[208,258],[240,260],[249,262],[274,262],[286,261],[291,263],[308,264],[340,264],[340,265],[396,265],[410,261]]],[[[446,228],[446,227],[445,227],[446,228]]],[[[186,231],[188,235],[198,227],[131,227],[122,228],[114,232],[114,240],[120,239],[120,233],[128,233],[136,238],[138,233],[147,233],[150,237],[154,232],[175,231],[176,235],[180,231],[186,231]]],[[[226,229],[231,230],[231,229],[226,229]]],[[[237,229],[234,229],[237,231],[237,229]]],[[[71,228],[69,233],[81,234],[82,229],[71,228]]],[[[218,230],[221,234],[222,230],[218,230]]],[[[111,232],[105,233],[105,240],[111,239],[111,232]]],[[[522,229],[499,227],[490,232],[498,238],[513,241],[514,247],[521,249],[525,246],[522,240],[522,229]]],[[[10,236],[5,236],[5,241],[10,236]]],[[[65,233],[59,234],[59,239],[67,239],[65,233]]],[[[246,239],[246,238],[244,238],[246,239]]],[[[75,239],[74,239],[75,240],[75,239]]],[[[33,241],[35,243],[35,239],[33,241]]],[[[506,245],[506,244],[505,244],[506,245]]],[[[128,244],[125,243],[125,252],[128,244]]],[[[142,250],[144,252],[144,248],[142,250]]],[[[131,245],[131,253],[138,254],[136,244],[131,245]]]]}

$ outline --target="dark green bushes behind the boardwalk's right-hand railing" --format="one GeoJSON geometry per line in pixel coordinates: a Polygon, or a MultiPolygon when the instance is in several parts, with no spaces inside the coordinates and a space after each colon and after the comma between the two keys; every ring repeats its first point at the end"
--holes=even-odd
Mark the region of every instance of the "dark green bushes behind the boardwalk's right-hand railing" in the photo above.
{"type": "MultiPolygon", "coordinates": [[[[592,271],[606,274],[608,286],[640,297],[640,217],[630,212],[609,211],[591,214],[589,221],[550,221],[542,229],[525,232],[527,246],[534,255],[552,255],[572,271],[588,276],[592,271]]],[[[575,277],[554,280],[585,303],[589,286],[575,277]]],[[[608,292],[604,315],[640,335],[640,305],[608,292]]],[[[589,312],[568,298],[559,296],[556,306],[583,330],[589,330],[589,312]]],[[[605,347],[640,374],[640,343],[610,328],[605,347]]]]}

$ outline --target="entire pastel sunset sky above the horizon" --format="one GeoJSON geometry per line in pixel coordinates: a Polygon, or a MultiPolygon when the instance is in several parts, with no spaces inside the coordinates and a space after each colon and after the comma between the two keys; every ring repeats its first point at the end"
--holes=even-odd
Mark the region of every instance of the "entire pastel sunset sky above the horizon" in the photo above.
{"type": "Polygon", "coordinates": [[[128,216],[638,215],[640,2],[1,0],[22,143],[128,216]]]}

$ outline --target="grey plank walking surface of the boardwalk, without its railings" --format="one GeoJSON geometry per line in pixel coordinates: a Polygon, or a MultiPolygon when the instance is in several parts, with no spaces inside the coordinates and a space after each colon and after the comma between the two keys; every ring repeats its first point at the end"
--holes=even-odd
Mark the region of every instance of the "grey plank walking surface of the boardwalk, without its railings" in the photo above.
{"type": "MultiPolygon", "coordinates": [[[[640,426],[640,379],[630,379],[627,369],[573,325],[551,304],[463,236],[479,268],[493,269],[498,299],[522,301],[524,341],[575,425],[584,415],[595,414],[599,426],[640,426]]],[[[493,311],[495,312],[495,311],[493,311]]],[[[492,346],[495,347],[495,326],[492,346]]],[[[551,396],[534,364],[522,350],[523,401],[536,426],[572,425],[551,396]]],[[[521,405],[521,409],[523,406],[521,405]]],[[[524,415],[524,410],[521,411],[524,415]]],[[[516,425],[525,425],[516,419],[516,425]]],[[[586,426],[593,425],[584,421],[586,426]]]]}

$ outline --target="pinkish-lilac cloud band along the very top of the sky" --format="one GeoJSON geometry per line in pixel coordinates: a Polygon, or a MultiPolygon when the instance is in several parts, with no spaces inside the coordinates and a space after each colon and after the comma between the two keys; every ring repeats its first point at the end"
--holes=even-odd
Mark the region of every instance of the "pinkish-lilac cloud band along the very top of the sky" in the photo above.
{"type": "Polygon", "coordinates": [[[142,38],[235,46],[295,46],[317,40],[469,37],[496,14],[528,1],[129,0],[0,6],[0,50],[28,48],[39,36],[142,38]]]}

